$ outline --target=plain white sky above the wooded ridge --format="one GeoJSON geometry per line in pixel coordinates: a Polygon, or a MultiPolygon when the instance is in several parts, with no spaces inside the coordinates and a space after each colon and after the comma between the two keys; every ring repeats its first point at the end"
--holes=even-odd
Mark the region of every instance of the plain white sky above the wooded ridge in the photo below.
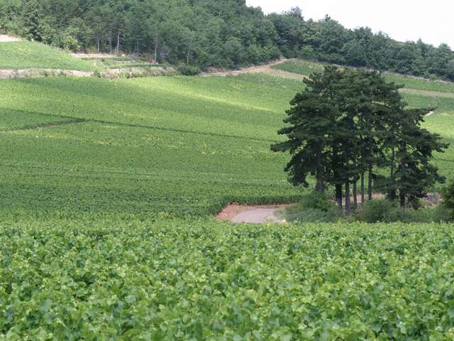
{"type": "Polygon", "coordinates": [[[305,19],[319,20],[328,14],[347,28],[368,26],[399,41],[418,40],[454,48],[454,1],[452,0],[246,0],[265,13],[299,6],[305,19]]]}

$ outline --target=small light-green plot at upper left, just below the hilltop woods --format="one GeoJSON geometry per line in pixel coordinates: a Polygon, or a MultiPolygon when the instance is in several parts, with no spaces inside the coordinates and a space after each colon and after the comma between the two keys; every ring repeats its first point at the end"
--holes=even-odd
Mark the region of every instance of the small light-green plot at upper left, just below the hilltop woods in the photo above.
{"type": "Polygon", "coordinates": [[[0,43],[0,69],[64,69],[94,71],[87,60],[74,58],[63,50],[26,40],[0,43]]]}

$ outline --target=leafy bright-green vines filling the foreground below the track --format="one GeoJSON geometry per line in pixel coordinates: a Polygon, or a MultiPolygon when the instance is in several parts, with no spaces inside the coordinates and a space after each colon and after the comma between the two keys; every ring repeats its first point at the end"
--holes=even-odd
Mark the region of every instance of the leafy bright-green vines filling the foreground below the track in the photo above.
{"type": "Polygon", "coordinates": [[[2,217],[0,338],[450,340],[453,242],[443,224],[2,217]]]}

